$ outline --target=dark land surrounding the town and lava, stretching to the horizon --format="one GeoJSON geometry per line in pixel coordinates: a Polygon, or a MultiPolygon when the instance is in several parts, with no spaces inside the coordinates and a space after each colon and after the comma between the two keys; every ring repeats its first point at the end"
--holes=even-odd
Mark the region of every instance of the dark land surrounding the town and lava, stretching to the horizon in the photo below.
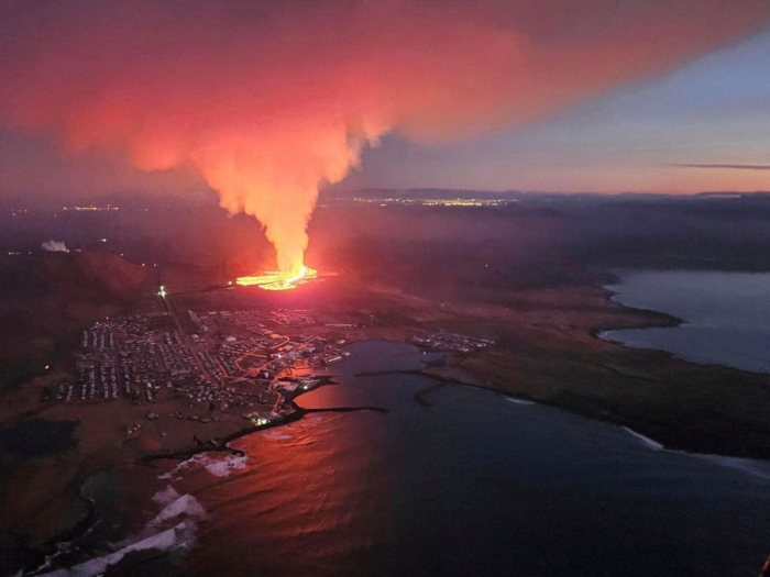
{"type": "MultiPolygon", "coordinates": [[[[361,326],[355,340],[404,341],[441,329],[494,339],[495,346],[450,357],[450,365],[485,387],[625,424],[670,447],[770,457],[770,377],[692,365],[595,336],[602,329],[676,322],[609,301],[601,287],[613,280],[613,269],[770,270],[770,196],[516,199],[459,208],[322,198],[307,264],[340,276],[285,295],[207,292],[272,266],[258,223],[228,219],[213,200],[113,199],[121,210],[109,212],[3,207],[0,435],[12,442],[31,419],[61,422],[75,433],[43,456],[0,443],[7,471],[0,506],[12,513],[0,523],[0,553],[13,556],[19,543],[40,545],[70,529],[82,507],[74,495],[88,475],[156,450],[160,440],[121,445],[123,429],[96,443],[110,424],[103,415],[88,408],[74,414],[40,399],[47,380],[72,370],[84,329],[155,302],[160,284],[177,295],[182,309],[251,300],[349,315],[361,326]],[[52,238],[82,252],[43,253],[40,244],[52,238]],[[20,492],[22,487],[36,490],[20,492]]],[[[446,368],[429,371],[453,378],[446,368]]]]}

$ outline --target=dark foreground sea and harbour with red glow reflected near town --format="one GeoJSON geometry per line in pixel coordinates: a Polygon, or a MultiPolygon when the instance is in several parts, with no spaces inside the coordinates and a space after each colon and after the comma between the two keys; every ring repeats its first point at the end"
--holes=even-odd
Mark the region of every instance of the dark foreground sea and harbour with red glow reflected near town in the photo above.
{"type": "Polygon", "coordinates": [[[209,514],[186,570],[722,577],[770,551],[765,478],[483,390],[443,387],[426,408],[426,378],[355,377],[413,347],[351,349],[342,384],[300,404],[389,412],[311,413],[239,440],[249,459],[229,477],[184,474],[176,490],[209,514]]]}

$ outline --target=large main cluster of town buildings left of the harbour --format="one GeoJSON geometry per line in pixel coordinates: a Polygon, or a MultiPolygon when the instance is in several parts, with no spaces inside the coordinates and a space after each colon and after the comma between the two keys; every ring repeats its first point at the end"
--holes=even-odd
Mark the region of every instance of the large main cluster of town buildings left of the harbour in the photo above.
{"type": "MultiPolygon", "coordinates": [[[[44,400],[131,402],[145,407],[153,422],[206,424],[240,413],[268,424],[296,410],[287,396],[322,381],[310,369],[350,356],[340,328],[351,325],[298,333],[316,324],[308,311],[285,309],[188,310],[184,323],[168,311],[106,319],[82,332],[74,377],[48,387],[44,400]],[[182,401],[185,410],[163,412],[164,401],[182,401]]],[[[141,429],[136,422],[127,434],[141,429]]]]}

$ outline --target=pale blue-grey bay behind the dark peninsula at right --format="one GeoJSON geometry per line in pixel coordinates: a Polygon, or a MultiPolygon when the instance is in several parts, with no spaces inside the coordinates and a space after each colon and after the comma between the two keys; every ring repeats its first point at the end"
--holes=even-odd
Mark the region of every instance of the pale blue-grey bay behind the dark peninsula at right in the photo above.
{"type": "Polygon", "coordinates": [[[666,312],[684,324],[606,331],[603,339],[694,363],[770,373],[770,274],[632,271],[609,288],[622,304],[666,312]]]}

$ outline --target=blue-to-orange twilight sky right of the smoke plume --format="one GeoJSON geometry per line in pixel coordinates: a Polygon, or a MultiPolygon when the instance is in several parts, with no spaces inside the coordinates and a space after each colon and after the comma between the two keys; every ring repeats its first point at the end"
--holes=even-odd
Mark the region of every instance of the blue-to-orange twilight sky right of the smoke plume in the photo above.
{"type": "Polygon", "coordinates": [[[344,187],[767,191],[770,32],[491,137],[437,147],[388,136],[362,165],[344,187]]]}

